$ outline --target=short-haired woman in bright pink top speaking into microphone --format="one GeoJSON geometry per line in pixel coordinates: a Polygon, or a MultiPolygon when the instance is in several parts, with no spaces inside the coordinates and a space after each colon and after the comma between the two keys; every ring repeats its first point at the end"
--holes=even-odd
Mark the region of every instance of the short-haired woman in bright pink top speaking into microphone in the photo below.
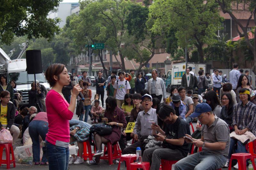
{"type": "Polygon", "coordinates": [[[49,123],[46,134],[44,152],[47,152],[49,170],[67,170],[69,159],[69,121],[76,107],[76,97],[81,87],[76,84],[72,90],[70,104],[65,100],[61,90],[64,85],[69,85],[70,76],[64,64],[52,64],[46,72],[52,90],[46,95],[46,110],[49,123]]]}

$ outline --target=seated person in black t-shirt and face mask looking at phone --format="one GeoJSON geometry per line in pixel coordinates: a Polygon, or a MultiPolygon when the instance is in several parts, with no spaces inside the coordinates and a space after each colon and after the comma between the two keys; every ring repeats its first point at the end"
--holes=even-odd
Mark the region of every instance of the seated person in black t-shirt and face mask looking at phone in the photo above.
{"type": "Polygon", "coordinates": [[[158,113],[159,119],[166,123],[165,134],[158,133],[156,140],[163,141],[161,147],[148,148],[142,156],[143,162],[150,162],[150,170],[158,170],[161,159],[180,160],[188,155],[190,144],[185,142],[185,134],[190,134],[185,119],[175,114],[173,107],[163,105],[158,113]]]}

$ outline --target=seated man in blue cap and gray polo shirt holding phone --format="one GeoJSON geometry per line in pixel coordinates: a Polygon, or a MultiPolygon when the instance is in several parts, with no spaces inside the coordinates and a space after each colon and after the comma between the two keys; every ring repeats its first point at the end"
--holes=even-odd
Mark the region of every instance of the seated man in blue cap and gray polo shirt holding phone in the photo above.
{"type": "Polygon", "coordinates": [[[213,114],[211,107],[207,103],[198,104],[195,112],[190,117],[197,117],[203,124],[202,137],[201,139],[194,139],[186,134],[193,142],[186,138],[185,141],[197,147],[202,147],[202,151],[178,161],[175,164],[175,170],[216,170],[222,168],[226,163],[230,145],[227,123],[213,114]]]}

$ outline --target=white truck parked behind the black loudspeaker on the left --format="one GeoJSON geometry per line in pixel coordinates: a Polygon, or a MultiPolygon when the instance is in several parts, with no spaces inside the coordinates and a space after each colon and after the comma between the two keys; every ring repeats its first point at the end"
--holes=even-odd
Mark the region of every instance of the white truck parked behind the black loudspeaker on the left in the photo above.
{"type": "MultiPolygon", "coordinates": [[[[0,73],[5,74],[7,82],[14,80],[17,84],[16,90],[22,93],[22,105],[28,105],[28,91],[31,89],[31,83],[35,81],[34,74],[28,74],[26,71],[26,59],[11,60],[8,55],[0,48],[0,73]]],[[[44,74],[36,74],[36,80],[49,91],[50,85],[47,83],[44,74]]]]}

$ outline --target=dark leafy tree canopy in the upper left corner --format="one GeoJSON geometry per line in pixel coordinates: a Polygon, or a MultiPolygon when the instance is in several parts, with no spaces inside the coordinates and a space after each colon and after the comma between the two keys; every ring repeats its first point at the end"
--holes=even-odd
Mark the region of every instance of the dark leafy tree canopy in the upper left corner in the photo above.
{"type": "Polygon", "coordinates": [[[0,2],[0,44],[10,44],[14,35],[50,40],[60,32],[60,19],[47,18],[62,0],[8,0],[0,2]]]}

